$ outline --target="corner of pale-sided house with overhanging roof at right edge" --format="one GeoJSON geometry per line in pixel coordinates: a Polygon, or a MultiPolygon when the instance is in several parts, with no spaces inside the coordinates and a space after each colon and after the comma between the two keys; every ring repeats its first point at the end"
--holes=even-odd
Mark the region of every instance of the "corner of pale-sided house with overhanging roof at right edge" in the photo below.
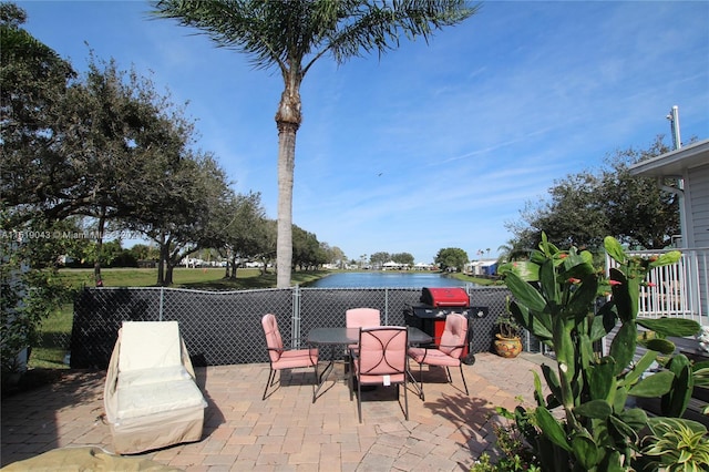
{"type": "Polygon", "coordinates": [[[681,239],[676,246],[682,260],[675,273],[658,273],[658,288],[645,297],[645,315],[709,325],[709,140],[635,164],[630,175],[682,182],[680,188],[666,188],[680,198],[681,239]]]}

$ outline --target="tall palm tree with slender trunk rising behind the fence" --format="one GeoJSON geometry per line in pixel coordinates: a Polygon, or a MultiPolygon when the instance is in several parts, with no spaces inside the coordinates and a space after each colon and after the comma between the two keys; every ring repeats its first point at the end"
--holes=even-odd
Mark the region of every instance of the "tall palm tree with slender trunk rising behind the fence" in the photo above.
{"type": "Polygon", "coordinates": [[[278,129],[277,287],[290,286],[292,183],[296,133],[302,121],[300,84],[326,54],[341,64],[352,57],[399,47],[401,35],[423,37],[460,23],[479,6],[465,0],[222,0],[154,2],[158,18],[197,28],[219,47],[251,57],[257,69],[278,68],[284,92],[278,129]]]}

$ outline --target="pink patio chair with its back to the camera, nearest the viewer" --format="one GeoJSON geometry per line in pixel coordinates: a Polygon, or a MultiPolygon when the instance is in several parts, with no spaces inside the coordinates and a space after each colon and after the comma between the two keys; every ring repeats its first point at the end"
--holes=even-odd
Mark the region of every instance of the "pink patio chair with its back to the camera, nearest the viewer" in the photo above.
{"type": "Polygon", "coordinates": [[[357,381],[357,412],[362,422],[362,386],[399,386],[403,384],[404,418],[409,420],[409,398],[407,396],[407,347],[409,330],[405,327],[382,326],[378,328],[360,328],[359,349],[350,351],[349,378],[350,401],[357,381]]]}

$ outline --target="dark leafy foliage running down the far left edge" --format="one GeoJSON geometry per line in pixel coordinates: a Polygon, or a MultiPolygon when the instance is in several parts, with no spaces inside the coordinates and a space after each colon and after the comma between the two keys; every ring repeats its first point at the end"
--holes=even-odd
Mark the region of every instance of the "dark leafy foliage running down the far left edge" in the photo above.
{"type": "Polygon", "coordinates": [[[44,215],[42,194],[49,179],[28,182],[32,170],[48,174],[58,161],[51,124],[53,104],[74,76],[71,65],[21,25],[24,10],[0,3],[0,367],[3,389],[22,369],[18,355],[37,340],[37,327],[70,297],[56,277],[56,258],[71,250],[70,219],[44,215]],[[43,158],[35,170],[24,165],[43,158]],[[28,183],[40,185],[25,185],[28,183]]]}

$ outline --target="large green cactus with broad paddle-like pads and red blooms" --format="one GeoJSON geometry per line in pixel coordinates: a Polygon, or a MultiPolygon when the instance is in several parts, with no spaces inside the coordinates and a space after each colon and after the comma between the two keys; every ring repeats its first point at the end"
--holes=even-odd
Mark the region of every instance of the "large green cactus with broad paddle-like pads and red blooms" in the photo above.
{"type": "Polygon", "coordinates": [[[695,384],[686,356],[672,355],[669,336],[691,336],[699,324],[687,319],[639,319],[639,287],[655,267],[676,263],[679,252],[659,257],[628,256],[613,237],[605,238],[617,263],[609,278],[593,266],[590,253],[559,250],[542,234],[528,261],[501,267],[514,296],[510,310],[533,336],[556,355],[556,369],[543,366],[551,394],[544,397],[535,376],[537,407],[517,407],[517,424],[547,471],[621,471],[641,458],[639,432],[648,425],[644,410],[629,397],[661,397],[666,417],[681,417],[695,384]],[[612,296],[595,309],[598,295],[612,296]],[[638,326],[657,336],[635,360],[638,326]],[[616,329],[609,352],[595,348],[616,329]],[[662,356],[660,356],[662,355],[662,356]],[[650,372],[658,362],[665,368],[650,372]]]}

